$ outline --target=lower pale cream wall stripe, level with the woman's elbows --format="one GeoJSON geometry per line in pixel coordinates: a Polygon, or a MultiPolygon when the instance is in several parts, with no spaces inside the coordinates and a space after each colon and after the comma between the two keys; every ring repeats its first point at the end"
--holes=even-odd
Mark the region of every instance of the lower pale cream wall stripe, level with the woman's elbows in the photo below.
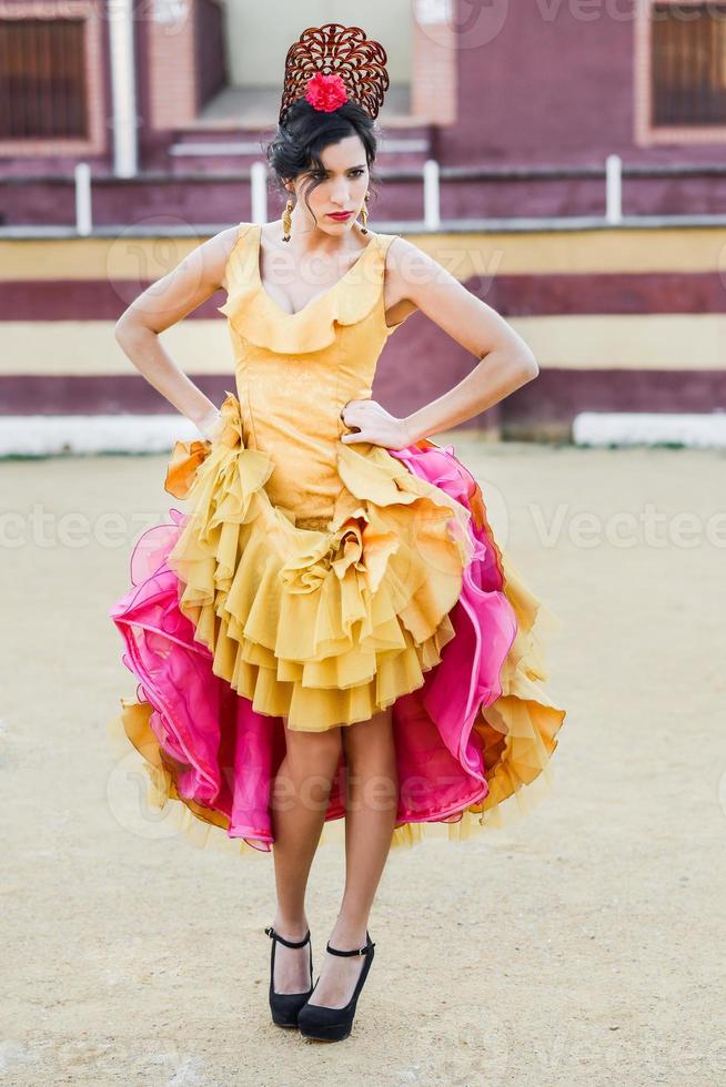
{"type": "MultiPolygon", "coordinates": [[[[726,369],[722,314],[513,317],[510,323],[542,368],[726,369]]],[[[162,333],[161,342],[188,374],[234,373],[221,317],[181,322],[162,333]]],[[[137,372],[113,338],[110,321],[2,322],[0,359],[0,373],[11,375],[137,372]]]]}

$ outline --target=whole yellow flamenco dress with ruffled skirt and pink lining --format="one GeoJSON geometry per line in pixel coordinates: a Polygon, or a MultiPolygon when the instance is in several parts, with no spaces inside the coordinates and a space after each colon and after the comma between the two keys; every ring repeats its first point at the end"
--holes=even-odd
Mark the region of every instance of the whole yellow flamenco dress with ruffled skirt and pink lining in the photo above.
{"type": "MultiPolygon", "coordinates": [[[[202,844],[269,852],[283,718],[322,732],[393,707],[392,844],[502,825],[495,809],[547,776],[565,717],[541,687],[542,606],[453,447],[340,440],[342,408],[372,395],[399,327],[383,298],[396,235],[371,234],[289,314],[262,285],[260,233],[240,224],[228,262],[226,426],[175,444],[165,488],[190,511],[144,535],[110,611],[140,684],[112,734],[142,752],[157,803],[181,802],[193,837],[201,824],[215,832],[202,844]]],[[[323,841],[344,815],[345,770],[343,755],[323,841]]]]}

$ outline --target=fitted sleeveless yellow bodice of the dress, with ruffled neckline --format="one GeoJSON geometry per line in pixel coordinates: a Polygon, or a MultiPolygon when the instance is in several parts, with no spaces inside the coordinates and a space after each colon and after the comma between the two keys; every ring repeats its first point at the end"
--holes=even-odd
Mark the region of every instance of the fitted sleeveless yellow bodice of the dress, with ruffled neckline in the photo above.
{"type": "Polygon", "coordinates": [[[241,223],[226,266],[228,317],[248,448],[275,463],[268,488],[299,519],[324,524],[342,484],[336,446],[349,428],[341,410],[371,396],[391,333],[386,325],[385,255],[397,235],[372,234],[355,263],[301,311],[284,311],[260,274],[258,223],[241,223]]]}

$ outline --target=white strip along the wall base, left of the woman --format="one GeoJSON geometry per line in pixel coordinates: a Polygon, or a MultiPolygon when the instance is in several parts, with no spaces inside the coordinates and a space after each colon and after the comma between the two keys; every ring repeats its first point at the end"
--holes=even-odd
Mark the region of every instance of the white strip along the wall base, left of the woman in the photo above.
{"type": "Polygon", "coordinates": [[[180,414],[0,416],[0,457],[169,453],[177,439],[201,437],[191,419],[180,414]]]}

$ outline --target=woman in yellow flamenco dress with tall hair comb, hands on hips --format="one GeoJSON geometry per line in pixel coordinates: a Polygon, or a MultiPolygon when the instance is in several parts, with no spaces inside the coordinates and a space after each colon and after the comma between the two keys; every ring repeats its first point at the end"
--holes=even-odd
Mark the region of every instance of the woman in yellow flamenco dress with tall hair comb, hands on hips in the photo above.
{"type": "Polygon", "coordinates": [[[145,534],[133,589],[110,612],[143,693],[122,699],[121,723],[162,800],[243,845],[274,845],[273,1020],[326,1040],[350,1034],[392,843],[436,823],[452,837],[481,826],[545,769],[565,715],[537,683],[538,601],[497,548],[476,482],[428,440],[537,366],[437,262],[365,226],[384,64],[359,28],[305,31],[268,152],[282,220],[200,245],[117,326],[204,435],[177,443],[167,479],[191,515],[145,534]],[[239,399],[216,407],[158,335],[220,287],[239,399]],[[371,383],[415,309],[481,362],[396,418],[371,383]],[[305,888],[341,816],[345,890],[313,986],[305,888]]]}

